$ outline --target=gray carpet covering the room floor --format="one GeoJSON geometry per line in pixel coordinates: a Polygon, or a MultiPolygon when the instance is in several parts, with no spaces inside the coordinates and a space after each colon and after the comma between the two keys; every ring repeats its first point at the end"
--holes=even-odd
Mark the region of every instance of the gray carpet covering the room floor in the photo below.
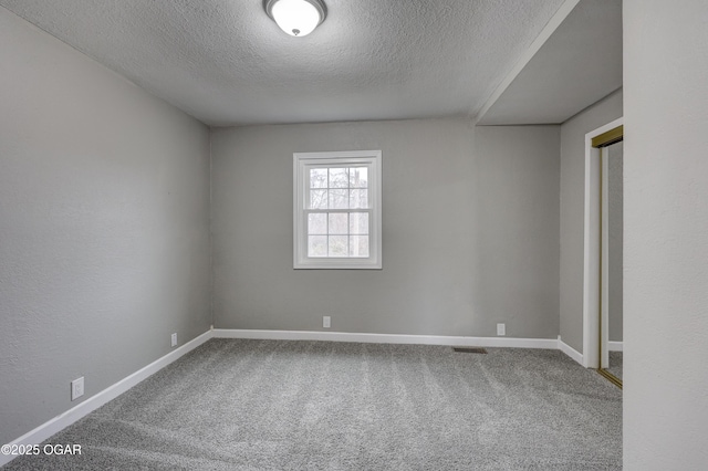
{"type": "Polygon", "coordinates": [[[612,470],[622,391],[556,350],[212,339],[7,470],[612,470]]]}

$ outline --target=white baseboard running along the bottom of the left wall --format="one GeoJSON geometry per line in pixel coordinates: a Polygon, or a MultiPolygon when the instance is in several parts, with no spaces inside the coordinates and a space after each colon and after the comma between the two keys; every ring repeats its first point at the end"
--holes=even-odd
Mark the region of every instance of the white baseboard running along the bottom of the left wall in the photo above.
{"type": "MultiPolygon", "coordinates": [[[[138,369],[134,374],[121,379],[118,383],[115,383],[112,386],[108,386],[101,393],[91,396],[88,399],[83,402],[72,407],[67,411],[54,417],[53,419],[42,423],[33,430],[24,433],[22,437],[11,441],[8,444],[39,444],[53,436],[54,433],[63,430],[64,428],[71,426],[76,420],[83,418],[84,416],[93,412],[104,404],[115,399],[123,393],[131,389],[133,386],[137,385],[142,380],[150,377],[155,373],[159,371],[170,363],[175,362],[183,355],[191,352],[197,348],[199,345],[207,342],[211,338],[212,331],[205,332],[192,341],[187,342],[185,345],[175,348],[173,352],[163,356],[162,358],[156,359],[144,368],[138,369]]],[[[0,467],[12,461],[17,456],[9,454],[0,454],[0,467]]]]}

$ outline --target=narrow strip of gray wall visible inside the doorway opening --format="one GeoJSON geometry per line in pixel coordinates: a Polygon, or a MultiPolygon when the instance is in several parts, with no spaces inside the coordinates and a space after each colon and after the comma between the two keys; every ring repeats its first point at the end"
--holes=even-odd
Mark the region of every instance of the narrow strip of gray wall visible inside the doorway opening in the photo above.
{"type": "Polygon", "coordinates": [[[607,303],[608,339],[622,342],[622,278],[623,278],[623,149],[624,143],[607,147],[607,303]]]}

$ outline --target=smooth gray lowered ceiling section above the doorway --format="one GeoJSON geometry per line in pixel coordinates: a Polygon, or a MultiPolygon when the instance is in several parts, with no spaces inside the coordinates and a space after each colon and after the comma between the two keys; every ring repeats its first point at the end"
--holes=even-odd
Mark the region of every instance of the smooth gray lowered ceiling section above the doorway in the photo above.
{"type": "Polygon", "coordinates": [[[581,0],[478,121],[563,123],[622,87],[622,0],[581,0]]]}

